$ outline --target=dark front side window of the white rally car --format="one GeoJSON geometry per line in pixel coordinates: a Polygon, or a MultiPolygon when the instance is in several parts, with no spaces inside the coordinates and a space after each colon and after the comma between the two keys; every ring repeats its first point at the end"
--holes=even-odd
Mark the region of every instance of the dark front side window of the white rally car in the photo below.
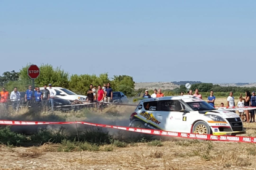
{"type": "Polygon", "coordinates": [[[181,103],[179,100],[160,100],[158,110],[159,111],[181,111],[181,103]]]}

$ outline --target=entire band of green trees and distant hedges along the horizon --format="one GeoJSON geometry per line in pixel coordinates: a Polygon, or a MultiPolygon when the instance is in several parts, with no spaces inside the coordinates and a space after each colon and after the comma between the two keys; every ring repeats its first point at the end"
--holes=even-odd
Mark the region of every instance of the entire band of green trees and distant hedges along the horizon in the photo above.
{"type": "MultiPolygon", "coordinates": [[[[32,84],[32,79],[27,75],[27,68],[29,65],[22,67],[19,72],[6,71],[0,76],[0,86],[5,86],[8,91],[12,91],[13,87],[18,87],[19,91],[25,91],[29,84],[32,84]]],[[[67,71],[61,69],[61,67],[53,68],[49,64],[41,64],[40,76],[35,79],[35,86],[43,87],[45,84],[51,83],[56,87],[64,87],[74,91],[77,94],[86,95],[90,84],[102,86],[104,83],[111,83],[113,91],[122,91],[127,96],[135,96],[143,94],[146,89],[134,90],[135,82],[131,76],[127,75],[115,75],[113,78],[109,78],[108,73],[102,73],[99,76],[96,75],[70,75],[67,71]]],[[[184,83],[180,87],[173,90],[164,90],[164,95],[179,95],[181,92],[186,94],[187,89],[184,83]]],[[[192,91],[198,89],[203,97],[207,97],[210,91],[214,91],[216,96],[226,97],[229,92],[234,92],[234,95],[239,96],[245,91],[256,91],[256,87],[234,87],[234,86],[220,86],[213,85],[212,83],[195,83],[192,84],[192,91]]],[[[150,91],[150,94],[153,91],[150,91]]]]}

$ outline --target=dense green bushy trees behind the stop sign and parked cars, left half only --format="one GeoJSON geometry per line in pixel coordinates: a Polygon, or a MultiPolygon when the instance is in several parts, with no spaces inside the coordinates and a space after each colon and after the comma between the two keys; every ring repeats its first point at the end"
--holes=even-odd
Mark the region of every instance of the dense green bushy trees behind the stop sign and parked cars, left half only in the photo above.
{"type": "MultiPolygon", "coordinates": [[[[0,85],[6,87],[8,91],[12,91],[14,87],[18,87],[19,91],[27,90],[29,84],[32,84],[32,79],[27,75],[29,65],[22,67],[19,72],[6,71],[0,76],[0,85]]],[[[54,87],[64,87],[77,94],[86,95],[90,84],[93,86],[105,83],[111,83],[113,91],[122,91],[127,96],[134,95],[134,80],[131,76],[115,75],[109,78],[108,73],[96,75],[70,75],[61,67],[53,68],[49,64],[41,64],[40,76],[35,79],[35,86],[43,87],[45,84],[51,83],[54,87]]]]}

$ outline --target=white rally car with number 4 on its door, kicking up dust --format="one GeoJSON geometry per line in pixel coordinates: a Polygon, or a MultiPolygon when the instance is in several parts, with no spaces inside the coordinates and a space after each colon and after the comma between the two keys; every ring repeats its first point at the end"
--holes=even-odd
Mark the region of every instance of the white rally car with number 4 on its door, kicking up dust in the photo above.
{"type": "Polygon", "coordinates": [[[235,136],[245,133],[236,113],[216,110],[192,95],[140,100],[130,115],[129,126],[195,134],[235,136]]]}

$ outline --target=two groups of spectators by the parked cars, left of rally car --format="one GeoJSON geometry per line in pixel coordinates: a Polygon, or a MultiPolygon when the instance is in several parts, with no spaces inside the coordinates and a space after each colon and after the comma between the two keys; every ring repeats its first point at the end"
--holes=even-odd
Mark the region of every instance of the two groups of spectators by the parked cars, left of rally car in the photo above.
{"type": "MultiPolygon", "coordinates": [[[[56,97],[56,91],[52,88],[51,84],[44,86],[44,89],[40,91],[40,87],[35,87],[35,90],[32,90],[32,86],[28,86],[27,91],[25,92],[24,101],[27,107],[41,107],[43,112],[48,112],[49,106],[51,106],[51,111],[54,110],[54,98],[56,97]]],[[[8,108],[7,100],[10,100],[12,103],[13,110],[17,111],[20,106],[20,92],[17,87],[14,87],[14,90],[9,95],[9,92],[6,91],[5,87],[2,87],[0,92],[0,103],[4,107],[8,108]]],[[[111,102],[113,99],[113,89],[110,86],[110,83],[103,84],[103,86],[98,85],[98,89],[93,84],[90,84],[90,89],[87,91],[86,102],[111,102]]],[[[74,101],[72,104],[77,104],[79,101],[74,101]]],[[[81,102],[79,102],[81,103],[81,102]]]]}

